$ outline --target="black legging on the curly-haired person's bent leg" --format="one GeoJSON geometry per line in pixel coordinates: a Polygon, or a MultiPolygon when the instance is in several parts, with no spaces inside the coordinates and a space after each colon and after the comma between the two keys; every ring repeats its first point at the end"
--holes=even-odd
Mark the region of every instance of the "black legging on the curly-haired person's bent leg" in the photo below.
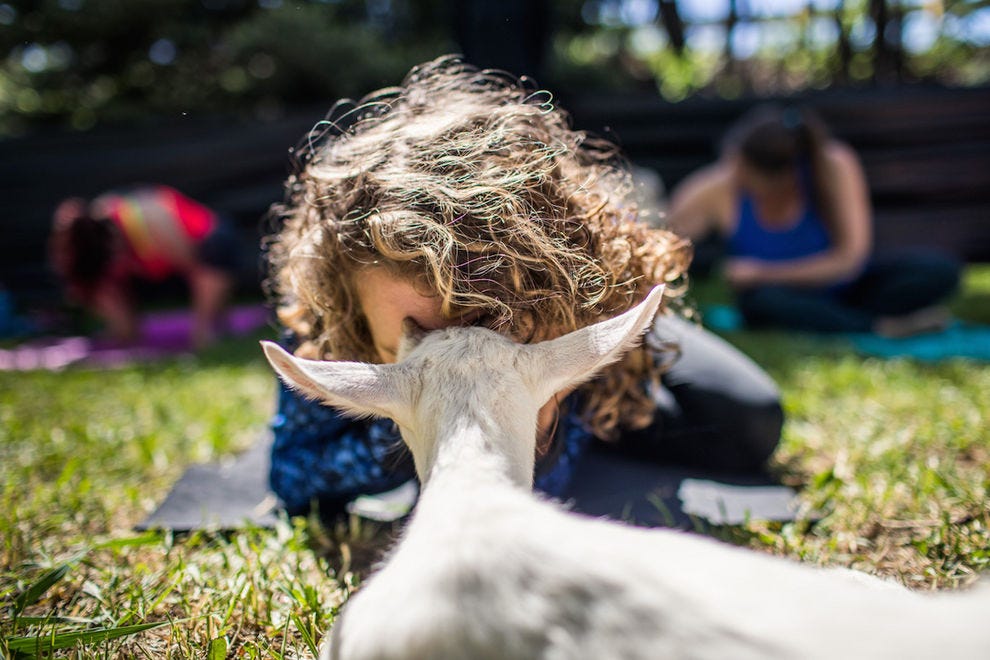
{"type": "Polygon", "coordinates": [[[659,414],[626,431],[616,451],[638,458],[727,472],[761,471],[780,441],[780,392],[752,360],[723,339],[676,317],[657,326],[680,357],[654,393],[659,414]]]}

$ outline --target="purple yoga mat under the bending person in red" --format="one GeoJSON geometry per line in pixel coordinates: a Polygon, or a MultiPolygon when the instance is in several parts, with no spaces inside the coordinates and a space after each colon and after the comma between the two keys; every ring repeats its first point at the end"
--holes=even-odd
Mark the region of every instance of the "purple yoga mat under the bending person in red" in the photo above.
{"type": "MultiPolygon", "coordinates": [[[[243,336],[268,323],[263,305],[232,307],[227,312],[224,334],[243,336]]],[[[192,353],[192,314],[180,310],[148,314],[141,321],[140,339],[120,345],[89,337],[34,339],[8,350],[0,350],[0,370],[57,371],[70,364],[115,367],[168,356],[192,353]]]]}

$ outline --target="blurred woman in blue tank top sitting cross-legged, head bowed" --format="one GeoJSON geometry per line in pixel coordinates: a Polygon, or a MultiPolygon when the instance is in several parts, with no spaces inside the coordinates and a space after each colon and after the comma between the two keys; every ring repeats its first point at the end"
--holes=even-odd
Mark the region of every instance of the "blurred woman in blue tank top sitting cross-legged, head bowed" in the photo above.
{"type": "Polygon", "coordinates": [[[671,227],[725,239],[724,275],[751,326],[904,336],[938,329],[958,263],[933,251],[874,254],[866,176],[811,111],[757,106],[722,156],[682,182],[671,227]]]}

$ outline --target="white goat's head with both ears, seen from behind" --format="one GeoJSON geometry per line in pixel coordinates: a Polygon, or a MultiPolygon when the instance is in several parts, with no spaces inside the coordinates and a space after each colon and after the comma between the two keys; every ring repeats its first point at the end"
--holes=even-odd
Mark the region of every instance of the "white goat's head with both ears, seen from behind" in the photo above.
{"type": "Polygon", "coordinates": [[[477,424],[506,439],[511,446],[502,449],[528,483],[539,409],[634,346],[662,297],[658,286],[619,316],[537,344],[480,327],[425,334],[407,328],[396,364],[305,360],[272,342],[262,346],[275,371],[304,395],[347,414],[392,418],[421,480],[443,434],[477,424]]]}

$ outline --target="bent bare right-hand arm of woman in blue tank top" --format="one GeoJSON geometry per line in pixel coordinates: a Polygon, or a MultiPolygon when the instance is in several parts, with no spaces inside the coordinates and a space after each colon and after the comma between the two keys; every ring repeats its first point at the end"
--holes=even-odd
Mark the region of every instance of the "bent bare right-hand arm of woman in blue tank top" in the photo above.
{"type": "Polygon", "coordinates": [[[727,265],[726,276],[733,285],[738,288],[760,284],[824,286],[859,271],[873,243],[866,176],[855,153],[840,143],[828,145],[825,167],[829,185],[824,201],[829,209],[831,247],[811,257],[777,263],[732,260],[727,265]]]}

